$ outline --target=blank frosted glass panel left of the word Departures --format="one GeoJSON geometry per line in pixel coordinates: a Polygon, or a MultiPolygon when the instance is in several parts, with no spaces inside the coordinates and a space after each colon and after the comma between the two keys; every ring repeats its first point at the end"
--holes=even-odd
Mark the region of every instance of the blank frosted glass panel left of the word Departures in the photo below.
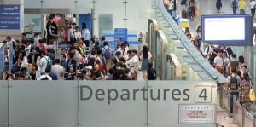
{"type": "Polygon", "coordinates": [[[76,81],[9,81],[9,124],[19,127],[78,126],[76,81]]]}

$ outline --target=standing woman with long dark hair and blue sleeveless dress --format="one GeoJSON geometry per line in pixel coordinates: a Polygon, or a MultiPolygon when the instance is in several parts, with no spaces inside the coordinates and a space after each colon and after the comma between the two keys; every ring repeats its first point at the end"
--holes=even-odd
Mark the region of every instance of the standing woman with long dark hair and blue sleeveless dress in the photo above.
{"type": "Polygon", "coordinates": [[[143,61],[141,70],[143,71],[143,79],[146,79],[146,71],[148,70],[148,62],[151,60],[152,55],[148,52],[148,47],[146,45],[143,46],[143,54],[140,55],[140,59],[143,61]]]}

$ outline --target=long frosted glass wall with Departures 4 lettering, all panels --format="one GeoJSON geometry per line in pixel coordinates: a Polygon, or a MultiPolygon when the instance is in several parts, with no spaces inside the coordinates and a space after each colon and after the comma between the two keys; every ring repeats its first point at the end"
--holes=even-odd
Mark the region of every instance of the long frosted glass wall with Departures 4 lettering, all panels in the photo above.
{"type": "MultiPolygon", "coordinates": [[[[214,107],[207,114],[212,124],[190,126],[216,126],[217,87],[213,81],[136,81],[135,84],[134,81],[24,80],[20,83],[0,81],[3,125],[186,127],[188,124],[177,123],[178,113],[182,111],[178,110],[179,105],[191,106],[201,101],[196,104],[214,107]],[[195,98],[204,87],[207,103],[201,97],[195,98]]],[[[185,117],[188,117],[186,113],[185,117]]]]}

